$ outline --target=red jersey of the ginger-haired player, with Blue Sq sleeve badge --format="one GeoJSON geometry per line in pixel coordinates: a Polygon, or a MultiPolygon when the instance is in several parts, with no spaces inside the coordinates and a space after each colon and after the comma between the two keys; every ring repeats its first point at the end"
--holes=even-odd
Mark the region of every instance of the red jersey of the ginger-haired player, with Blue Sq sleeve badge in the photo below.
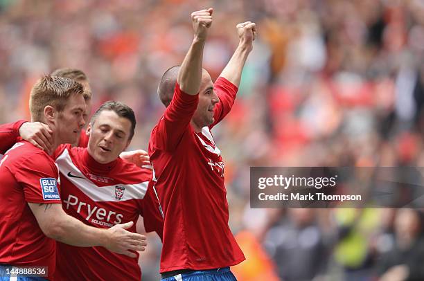
{"type": "Polygon", "coordinates": [[[55,240],[44,235],[28,203],[61,203],[58,168],[51,156],[21,141],[0,165],[0,263],[48,266],[55,271],[55,240]]]}

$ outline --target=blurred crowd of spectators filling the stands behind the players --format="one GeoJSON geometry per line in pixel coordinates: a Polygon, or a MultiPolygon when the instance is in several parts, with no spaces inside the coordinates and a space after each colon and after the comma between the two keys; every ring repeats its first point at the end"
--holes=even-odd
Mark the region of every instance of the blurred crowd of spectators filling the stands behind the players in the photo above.
{"type": "MultiPolygon", "coordinates": [[[[131,148],[146,149],[164,112],[161,75],[182,62],[191,12],[209,7],[213,79],[236,24],[258,28],[236,104],[214,129],[248,258],[239,280],[424,280],[421,210],[249,208],[252,166],[424,166],[423,0],[0,0],[0,122],[28,119],[35,80],[73,67],[87,73],[94,109],[134,109],[131,148]]],[[[158,278],[150,241],[143,280],[158,278]]]]}

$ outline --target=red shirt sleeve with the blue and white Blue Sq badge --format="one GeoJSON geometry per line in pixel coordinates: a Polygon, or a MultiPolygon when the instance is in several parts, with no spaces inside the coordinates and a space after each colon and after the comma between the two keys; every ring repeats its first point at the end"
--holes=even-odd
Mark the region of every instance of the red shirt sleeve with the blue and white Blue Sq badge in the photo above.
{"type": "Polygon", "coordinates": [[[32,154],[19,163],[15,179],[24,189],[25,200],[30,203],[61,203],[59,171],[44,152],[32,154]]]}

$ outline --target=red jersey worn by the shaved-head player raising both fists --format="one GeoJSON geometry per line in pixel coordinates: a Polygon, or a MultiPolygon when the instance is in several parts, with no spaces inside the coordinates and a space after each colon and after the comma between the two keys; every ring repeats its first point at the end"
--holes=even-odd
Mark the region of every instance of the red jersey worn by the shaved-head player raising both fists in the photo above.
{"type": "MultiPolygon", "coordinates": [[[[214,91],[218,123],[226,116],[237,87],[218,78],[214,91]]],[[[161,273],[177,269],[214,269],[245,260],[228,226],[224,162],[210,132],[196,133],[190,125],[198,96],[177,84],[170,105],[154,127],[149,143],[154,167],[154,188],[164,213],[161,273]]]]}

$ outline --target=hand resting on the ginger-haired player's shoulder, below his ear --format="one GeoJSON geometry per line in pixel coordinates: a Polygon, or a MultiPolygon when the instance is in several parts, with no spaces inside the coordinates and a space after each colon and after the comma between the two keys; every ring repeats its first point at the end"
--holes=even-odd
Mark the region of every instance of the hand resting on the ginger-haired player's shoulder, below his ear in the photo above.
{"type": "Polygon", "coordinates": [[[19,136],[46,152],[53,149],[53,131],[41,122],[26,122],[19,128],[19,136]]]}

